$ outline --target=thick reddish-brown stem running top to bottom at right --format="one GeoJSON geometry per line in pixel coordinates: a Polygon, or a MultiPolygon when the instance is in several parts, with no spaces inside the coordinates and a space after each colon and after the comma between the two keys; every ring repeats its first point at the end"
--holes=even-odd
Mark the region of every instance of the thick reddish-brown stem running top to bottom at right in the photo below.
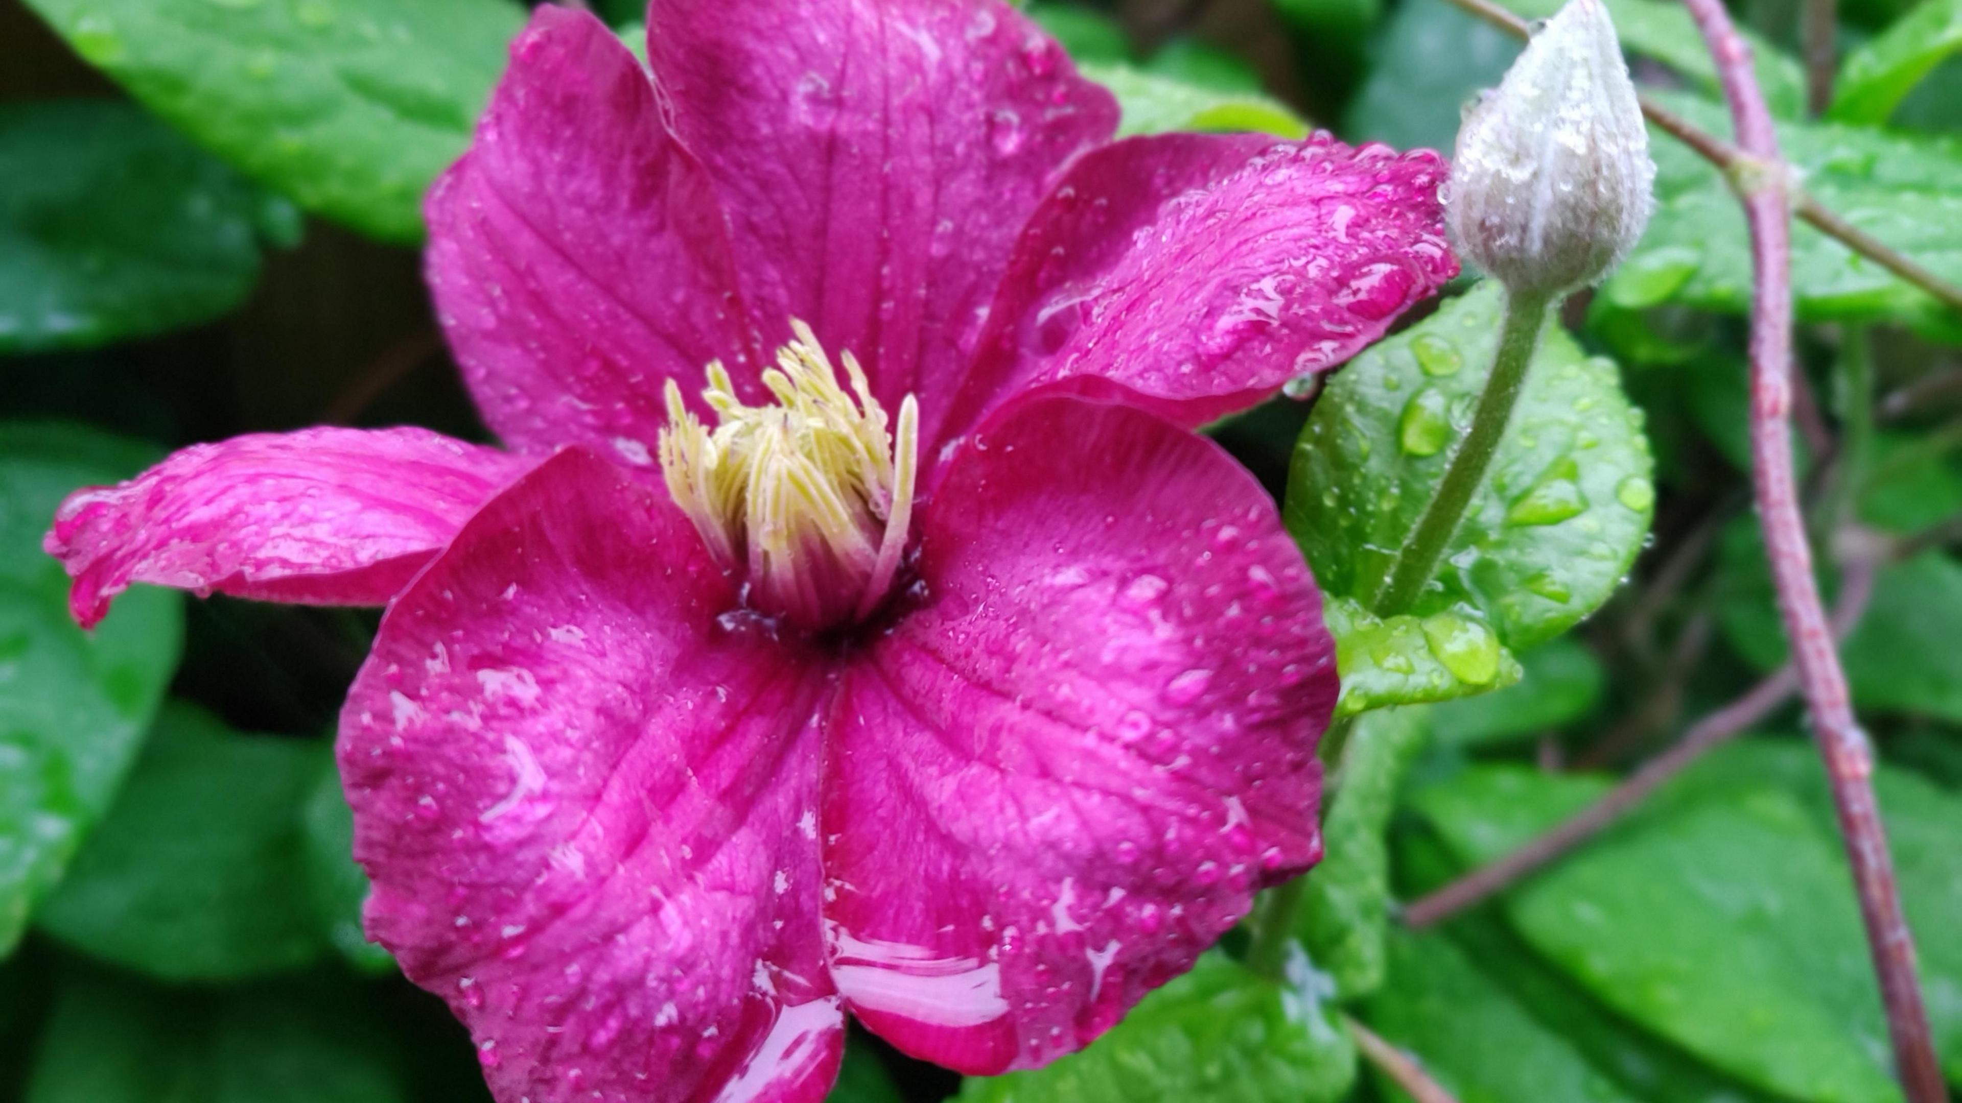
{"type": "Polygon", "coordinates": [[[1752,71],[1750,47],[1723,0],[1683,0],[1717,63],[1738,147],[1772,171],[1730,173],[1752,243],[1750,451],[1764,548],[1772,561],[1778,610],[1791,638],[1799,689],[1825,758],[1846,860],[1860,895],[1868,950],[1893,1038],[1895,1072],[1911,1103],[1946,1103],[1929,1013],[1915,975],[1915,940],[1901,913],[1887,834],[1874,803],[1874,754],[1852,714],[1846,673],[1819,604],[1813,552],[1791,471],[1791,208],[1778,131],[1752,71]]]}

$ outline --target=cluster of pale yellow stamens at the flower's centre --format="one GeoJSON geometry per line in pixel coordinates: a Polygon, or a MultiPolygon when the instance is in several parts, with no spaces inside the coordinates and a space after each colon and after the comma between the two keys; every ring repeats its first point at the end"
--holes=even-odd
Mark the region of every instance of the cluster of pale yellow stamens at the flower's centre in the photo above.
{"type": "Polygon", "coordinates": [[[667,381],[661,473],[708,550],[748,565],[749,603],[804,628],[863,618],[885,597],[906,546],[918,469],[920,408],[899,406],[899,442],[871,396],[865,371],[840,359],[852,393],[810,326],[777,349],[763,387],[777,402],[746,406],[722,363],[708,365],[702,398],[710,430],[667,381]]]}

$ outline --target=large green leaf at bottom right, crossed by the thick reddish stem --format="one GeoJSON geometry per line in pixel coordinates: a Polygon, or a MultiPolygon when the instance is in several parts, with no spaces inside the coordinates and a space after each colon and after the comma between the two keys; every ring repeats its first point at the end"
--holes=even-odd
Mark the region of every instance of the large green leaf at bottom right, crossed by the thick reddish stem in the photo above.
{"type": "MultiPolygon", "coordinates": [[[[1793,1099],[1893,1101],[1887,1032],[1823,785],[1799,740],[1713,754],[1603,842],[1505,897],[1519,934],[1597,999],[1711,1066],[1793,1099]]],[[[1460,862],[1483,864],[1599,797],[1603,777],[1483,767],[1420,791],[1417,809],[1460,862]]],[[[1962,801],[1882,767],[1876,775],[1917,930],[1962,922],[1962,801]]],[[[1936,942],[1942,942],[1936,938],[1936,942]]],[[[1952,940],[1950,940],[1952,942],[1952,940]]],[[[1962,954],[1929,950],[1931,991],[1962,981],[1962,954]]],[[[1931,1005],[1950,1076],[1962,1009],[1931,1005]]]]}

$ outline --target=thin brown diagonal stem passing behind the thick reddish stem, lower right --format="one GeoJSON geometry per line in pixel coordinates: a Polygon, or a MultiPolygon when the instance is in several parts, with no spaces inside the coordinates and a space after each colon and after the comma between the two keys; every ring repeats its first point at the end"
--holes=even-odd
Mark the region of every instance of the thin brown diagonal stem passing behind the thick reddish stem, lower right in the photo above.
{"type": "MultiPolygon", "coordinates": [[[[1838,604],[1833,610],[1834,626],[1840,632],[1850,630],[1860,620],[1872,593],[1874,565],[1870,561],[1848,563],[1838,604]]],[[[1640,805],[1664,781],[1681,773],[1703,752],[1729,742],[1738,732],[1772,714],[1774,709],[1791,699],[1797,687],[1797,669],[1791,663],[1778,667],[1776,673],[1750,687],[1744,697],[1691,724],[1674,748],[1650,760],[1642,769],[1630,773],[1621,785],[1609,789],[1599,801],[1560,822],[1560,826],[1411,903],[1403,909],[1405,926],[1422,928],[1450,919],[1601,834],[1603,828],[1640,805]]]]}

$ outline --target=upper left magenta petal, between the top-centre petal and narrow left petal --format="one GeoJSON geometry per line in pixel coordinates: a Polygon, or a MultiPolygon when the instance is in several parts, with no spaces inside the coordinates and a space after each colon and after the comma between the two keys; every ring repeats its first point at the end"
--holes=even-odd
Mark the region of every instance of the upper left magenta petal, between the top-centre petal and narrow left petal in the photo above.
{"type": "Polygon", "coordinates": [[[753,379],[708,177],[591,14],[538,8],[477,141],[426,206],[443,328],[514,447],[581,442],[647,463],[669,377],[691,396],[712,359],[753,379]]]}

